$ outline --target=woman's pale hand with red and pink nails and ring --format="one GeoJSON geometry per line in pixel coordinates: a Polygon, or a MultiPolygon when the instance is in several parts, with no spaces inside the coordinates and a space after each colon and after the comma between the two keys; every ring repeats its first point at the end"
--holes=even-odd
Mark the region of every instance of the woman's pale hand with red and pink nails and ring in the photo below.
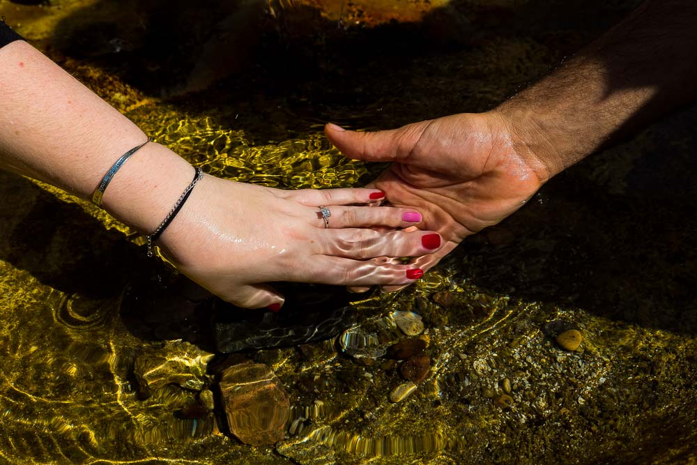
{"type": "Polygon", "coordinates": [[[441,246],[429,231],[370,227],[420,224],[413,208],[375,203],[375,189],[278,190],[204,176],[158,245],[182,273],[240,307],[277,309],[274,281],[402,286],[422,274],[386,257],[418,257],[441,246]],[[372,197],[371,197],[372,196],[372,197]],[[328,228],[319,211],[330,209],[328,228]]]}

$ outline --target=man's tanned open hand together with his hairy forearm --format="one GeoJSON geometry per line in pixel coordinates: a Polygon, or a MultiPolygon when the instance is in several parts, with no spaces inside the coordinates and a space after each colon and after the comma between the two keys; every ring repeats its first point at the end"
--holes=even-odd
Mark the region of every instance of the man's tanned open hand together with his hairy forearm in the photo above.
{"type": "MultiPolygon", "coordinates": [[[[327,125],[348,157],[391,161],[374,183],[395,206],[424,215],[445,247],[520,208],[552,176],[697,98],[697,6],[648,0],[537,84],[492,112],[457,114],[389,131],[327,125]]],[[[395,290],[395,287],[383,288],[395,290]]]]}

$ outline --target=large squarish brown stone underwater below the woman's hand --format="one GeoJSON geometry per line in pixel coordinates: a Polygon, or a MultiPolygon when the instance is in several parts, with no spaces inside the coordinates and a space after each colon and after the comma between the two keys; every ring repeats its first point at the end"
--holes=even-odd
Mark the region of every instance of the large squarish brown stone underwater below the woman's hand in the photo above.
{"type": "Polygon", "coordinates": [[[291,402],[271,369],[261,363],[233,365],[220,376],[220,395],[230,432],[250,445],[284,439],[291,402]]]}

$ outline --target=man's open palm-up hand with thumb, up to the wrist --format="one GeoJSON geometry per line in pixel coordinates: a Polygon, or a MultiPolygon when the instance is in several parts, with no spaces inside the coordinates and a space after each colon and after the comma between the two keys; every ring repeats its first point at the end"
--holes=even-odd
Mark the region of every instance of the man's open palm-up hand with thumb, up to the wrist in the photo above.
{"type": "MultiPolygon", "coordinates": [[[[457,114],[379,132],[327,125],[330,141],[347,157],[392,162],[373,185],[393,206],[413,206],[419,225],[438,231],[445,245],[413,261],[427,270],[463,238],[523,206],[546,181],[541,162],[516,144],[500,114],[457,114]]],[[[399,287],[388,286],[385,290],[399,287]]]]}

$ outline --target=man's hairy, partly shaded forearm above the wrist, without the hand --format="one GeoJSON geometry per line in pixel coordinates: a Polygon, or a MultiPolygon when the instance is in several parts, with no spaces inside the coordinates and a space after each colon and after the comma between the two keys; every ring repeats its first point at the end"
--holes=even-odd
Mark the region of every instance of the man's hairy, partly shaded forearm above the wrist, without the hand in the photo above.
{"type": "Polygon", "coordinates": [[[547,179],[692,102],[696,49],[697,5],[650,0],[495,113],[547,179]]]}

